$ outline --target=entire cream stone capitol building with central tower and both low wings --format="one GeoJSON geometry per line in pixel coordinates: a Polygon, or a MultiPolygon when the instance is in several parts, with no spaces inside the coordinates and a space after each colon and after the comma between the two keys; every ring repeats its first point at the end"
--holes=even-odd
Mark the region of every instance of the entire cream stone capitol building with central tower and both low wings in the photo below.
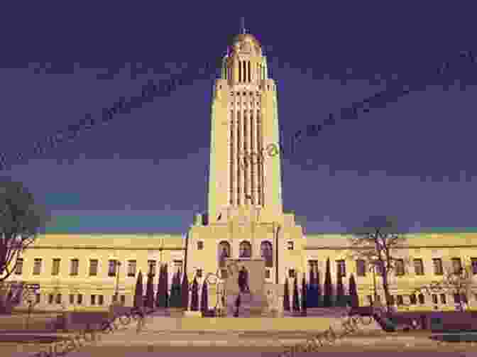
{"type": "MultiPolygon", "coordinates": [[[[281,153],[264,154],[280,142],[278,89],[261,43],[241,32],[229,44],[221,77],[214,82],[207,212],[197,214],[184,234],[39,235],[9,277],[40,284],[35,310],[106,310],[116,298],[132,306],[139,271],[144,286],[151,273],[157,287],[163,264],[169,267],[169,287],[177,271],[187,272],[190,281],[196,277],[199,285],[210,273],[226,278],[222,254],[263,261],[259,278],[282,309],[285,278],[291,290],[294,279],[301,282],[305,275],[308,280],[314,269],[323,284],[327,258],[333,283],[339,273],[347,290],[353,274],[361,305],[370,304],[375,292],[384,302],[380,277],[362,260],[350,258],[349,236],[305,236],[295,214],[283,211],[281,153]],[[253,160],[243,165],[244,158],[253,160]]],[[[405,245],[395,255],[402,256],[402,267],[390,273],[389,283],[397,308],[454,309],[449,292],[417,300],[412,292],[442,279],[447,265],[468,266],[477,275],[477,233],[405,234],[405,245]]],[[[208,285],[210,308],[218,302],[217,288],[208,285]]],[[[477,305],[477,289],[467,298],[469,306],[477,305]]]]}

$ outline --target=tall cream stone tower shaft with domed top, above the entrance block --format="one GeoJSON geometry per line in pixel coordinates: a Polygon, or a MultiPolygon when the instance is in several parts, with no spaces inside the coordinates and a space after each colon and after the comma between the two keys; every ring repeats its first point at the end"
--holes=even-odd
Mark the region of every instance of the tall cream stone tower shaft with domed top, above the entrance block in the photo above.
{"type": "Polygon", "coordinates": [[[275,82],[257,38],[241,32],[214,84],[209,224],[235,216],[277,221],[283,214],[275,82]]]}

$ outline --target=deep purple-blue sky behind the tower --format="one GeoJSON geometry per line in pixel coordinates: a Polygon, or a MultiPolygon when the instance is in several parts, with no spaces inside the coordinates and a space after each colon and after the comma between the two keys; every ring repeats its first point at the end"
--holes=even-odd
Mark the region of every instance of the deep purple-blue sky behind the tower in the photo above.
{"type": "MultiPolygon", "coordinates": [[[[52,210],[50,231],[185,233],[207,209],[219,75],[197,71],[218,65],[240,18],[202,2],[102,4],[2,8],[1,174],[52,210]],[[141,97],[148,80],[171,76],[182,82],[170,92],[141,97]],[[107,123],[45,143],[87,114],[101,121],[121,97],[128,107],[107,123]]],[[[341,232],[375,214],[413,231],[477,226],[474,9],[266,4],[240,15],[278,86],[285,211],[306,233],[341,232]],[[311,125],[321,130],[307,137],[311,125]]]]}

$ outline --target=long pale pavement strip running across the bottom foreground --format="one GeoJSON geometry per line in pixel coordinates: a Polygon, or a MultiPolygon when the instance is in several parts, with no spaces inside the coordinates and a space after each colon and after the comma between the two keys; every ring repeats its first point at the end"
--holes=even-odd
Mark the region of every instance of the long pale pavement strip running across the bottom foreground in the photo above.
{"type": "MultiPolygon", "coordinates": [[[[184,331],[170,333],[168,331],[116,331],[112,334],[102,334],[97,342],[90,342],[90,346],[124,346],[127,341],[128,346],[227,346],[227,347],[283,347],[293,346],[295,344],[305,344],[307,339],[319,334],[319,331],[290,332],[273,331],[263,333],[263,331],[223,331],[204,332],[204,331],[184,331]]],[[[50,340],[65,339],[74,334],[27,334],[25,331],[2,333],[0,335],[0,345],[2,343],[21,343],[24,344],[36,341],[37,343],[48,343],[50,340]],[[26,339],[31,336],[32,339],[26,339]]],[[[429,331],[415,331],[410,333],[382,333],[379,336],[366,336],[364,334],[352,334],[341,339],[336,339],[334,346],[402,346],[402,347],[438,347],[442,341],[430,339],[430,336],[451,336],[461,338],[468,342],[468,346],[477,346],[477,333],[466,334],[431,334],[429,331]],[[472,339],[465,339],[465,337],[472,339]]],[[[323,341],[324,346],[329,346],[329,342],[323,341]]],[[[448,340],[451,341],[451,340],[448,340]]]]}

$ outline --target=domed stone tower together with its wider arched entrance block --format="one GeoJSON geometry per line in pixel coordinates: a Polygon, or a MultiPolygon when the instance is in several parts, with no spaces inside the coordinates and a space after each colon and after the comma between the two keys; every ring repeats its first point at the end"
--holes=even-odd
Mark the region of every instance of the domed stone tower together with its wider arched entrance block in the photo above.
{"type": "MultiPolygon", "coordinates": [[[[261,299],[283,292],[287,269],[301,259],[290,241],[301,246],[302,227],[283,212],[277,104],[261,43],[242,28],[214,82],[207,213],[195,216],[187,235],[187,275],[219,275],[227,294],[238,289],[232,263],[246,267],[261,299]]],[[[211,304],[224,291],[213,281],[211,304]]]]}

